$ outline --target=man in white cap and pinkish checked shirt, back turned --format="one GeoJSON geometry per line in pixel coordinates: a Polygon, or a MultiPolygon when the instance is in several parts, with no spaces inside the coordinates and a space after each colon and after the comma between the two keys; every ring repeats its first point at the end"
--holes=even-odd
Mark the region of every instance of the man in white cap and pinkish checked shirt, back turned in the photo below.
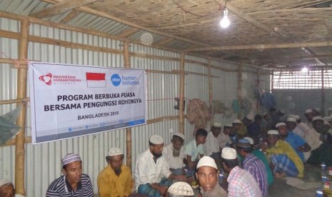
{"type": "Polygon", "coordinates": [[[223,171],[229,173],[228,196],[234,197],[260,197],[261,189],[255,178],[238,166],[238,158],[234,148],[223,148],[221,151],[221,166],[223,171]]]}

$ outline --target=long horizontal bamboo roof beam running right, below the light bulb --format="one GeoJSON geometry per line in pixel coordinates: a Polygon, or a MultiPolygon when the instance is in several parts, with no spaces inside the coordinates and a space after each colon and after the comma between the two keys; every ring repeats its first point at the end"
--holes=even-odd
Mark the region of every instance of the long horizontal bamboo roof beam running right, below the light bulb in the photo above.
{"type": "Polygon", "coordinates": [[[251,50],[251,49],[291,49],[302,47],[322,47],[332,46],[332,41],[315,41],[301,43],[283,43],[283,44],[249,44],[249,45],[233,45],[233,46],[211,46],[196,49],[188,49],[186,51],[221,51],[221,50],[251,50]]]}

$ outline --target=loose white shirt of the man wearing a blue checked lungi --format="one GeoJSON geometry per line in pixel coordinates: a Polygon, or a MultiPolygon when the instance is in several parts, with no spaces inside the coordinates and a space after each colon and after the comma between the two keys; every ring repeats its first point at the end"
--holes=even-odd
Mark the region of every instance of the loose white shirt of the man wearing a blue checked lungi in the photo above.
{"type": "Polygon", "coordinates": [[[169,171],[164,156],[159,157],[154,163],[154,156],[150,152],[150,148],[137,156],[134,174],[136,189],[141,184],[159,183],[161,178],[168,178],[170,175],[171,171],[169,171]]]}

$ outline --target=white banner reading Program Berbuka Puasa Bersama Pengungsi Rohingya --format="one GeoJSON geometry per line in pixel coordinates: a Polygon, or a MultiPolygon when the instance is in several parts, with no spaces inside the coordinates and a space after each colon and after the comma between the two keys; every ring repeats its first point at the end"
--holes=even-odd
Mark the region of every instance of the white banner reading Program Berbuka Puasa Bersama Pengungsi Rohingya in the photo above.
{"type": "Polygon", "coordinates": [[[31,62],[32,142],[145,124],[145,76],[141,69],[31,62]]]}

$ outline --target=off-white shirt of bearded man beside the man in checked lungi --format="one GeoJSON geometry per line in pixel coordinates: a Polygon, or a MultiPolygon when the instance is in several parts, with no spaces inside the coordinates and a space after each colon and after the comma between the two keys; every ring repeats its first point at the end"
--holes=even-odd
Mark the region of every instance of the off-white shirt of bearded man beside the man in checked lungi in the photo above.
{"type": "Polygon", "coordinates": [[[184,166],[186,166],[183,163],[183,158],[186,158],[186,153],[184,153],[183,146],[180,149],[180,154],[178,155],[178,157],[174,157],[173,156],[173,143],[168,143],[166,146],[164,146],[163,156],[166,159],[169,168],[178,169],[178,168],[183,168],[184,166]]]}

